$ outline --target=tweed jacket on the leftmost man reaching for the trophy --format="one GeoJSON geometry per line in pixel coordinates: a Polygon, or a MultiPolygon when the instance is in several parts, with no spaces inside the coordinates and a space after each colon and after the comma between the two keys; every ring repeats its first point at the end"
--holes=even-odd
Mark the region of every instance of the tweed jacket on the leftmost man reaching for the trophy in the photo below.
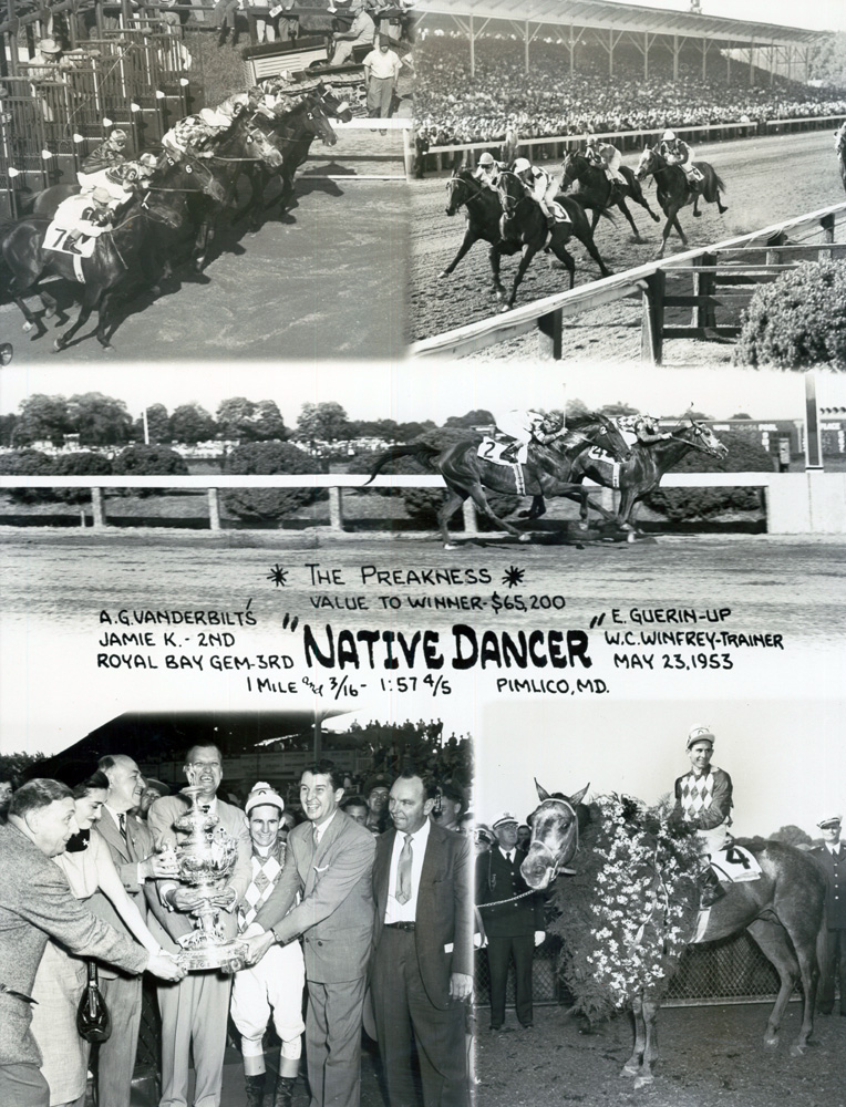
{"type": "MultiPolygon", "coordinates": [[[[71,953],[144,971],[147,951],[87,911],[59,866],[17,827],[0,826],[0,983],[31,995],[48,938],[71,953]]],[[[0,1065],[41,1063],[31,1020],[30,1004],[0,992],[0,1065]]]]}

